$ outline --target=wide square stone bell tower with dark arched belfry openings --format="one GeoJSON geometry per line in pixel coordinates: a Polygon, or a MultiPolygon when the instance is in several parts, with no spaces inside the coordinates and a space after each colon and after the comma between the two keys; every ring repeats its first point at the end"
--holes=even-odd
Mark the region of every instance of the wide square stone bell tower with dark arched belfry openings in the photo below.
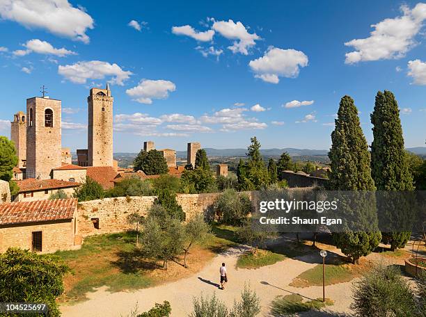
{"type": "Polygon", "coordinates": [[[61,148],[61,100],[26,99],[26,178],[51,178],[61,166],[61,148]]]}

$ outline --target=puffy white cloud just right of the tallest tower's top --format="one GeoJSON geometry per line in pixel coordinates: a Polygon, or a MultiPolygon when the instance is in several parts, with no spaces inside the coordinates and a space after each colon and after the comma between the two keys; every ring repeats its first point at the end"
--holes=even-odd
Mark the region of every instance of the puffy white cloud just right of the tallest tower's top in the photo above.
{"type": "Polygon", "coordinates": [[[176,86],[171,81],[144,79],[139,82],[138,86],[127,89],[126,93],[141,104],[152,104],[152,99],[166,99],[168,92],[175,90],[176,86]]]}

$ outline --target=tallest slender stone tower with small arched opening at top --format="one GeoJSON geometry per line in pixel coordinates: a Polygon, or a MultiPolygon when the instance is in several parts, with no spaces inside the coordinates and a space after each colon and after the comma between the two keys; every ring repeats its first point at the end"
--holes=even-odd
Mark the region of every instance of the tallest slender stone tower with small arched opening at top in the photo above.
{"type": "Polygon", "coordinates": [[[113,166],[113,97],[92,88],[88,102],[88,166],[113,166]]]}

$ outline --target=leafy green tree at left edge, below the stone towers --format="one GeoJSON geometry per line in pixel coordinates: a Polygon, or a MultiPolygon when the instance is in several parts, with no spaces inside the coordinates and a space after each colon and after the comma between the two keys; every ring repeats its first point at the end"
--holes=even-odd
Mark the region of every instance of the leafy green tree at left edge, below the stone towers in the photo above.
{"type": "Polygon", "coordinates": [[[13,168],[18,163],[15,145],[6,136],[0,136],[0,179],[9,183],[10,195],[16,195],[19,187],[13,181],[13,168]]]}

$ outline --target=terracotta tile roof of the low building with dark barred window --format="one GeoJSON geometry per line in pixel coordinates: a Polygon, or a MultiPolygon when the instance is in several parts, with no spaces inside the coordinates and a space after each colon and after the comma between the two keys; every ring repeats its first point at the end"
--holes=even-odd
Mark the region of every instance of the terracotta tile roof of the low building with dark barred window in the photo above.
{"type": "Polygon", "coordinates": [[[74,218],[77,200],[36,200],[0,204],[0,225],[74,218]]]}

